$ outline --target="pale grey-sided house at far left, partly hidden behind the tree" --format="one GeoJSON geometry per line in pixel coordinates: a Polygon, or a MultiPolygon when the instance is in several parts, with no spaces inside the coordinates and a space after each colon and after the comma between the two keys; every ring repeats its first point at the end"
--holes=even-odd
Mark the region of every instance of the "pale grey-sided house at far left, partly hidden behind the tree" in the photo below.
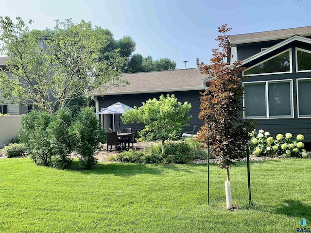
{"type": "MultiPolygon", "coordinates": [[[[0,57],[0,68],[6,69],[5,63],[9,60],[9,57],[0,57]]],[[[10,78],[14,78],[11,72],[7,72],[7,75],[10,78]]],[[[1,91],[1,90],[0,90],[1,91]]],[[[3,103],[0,102],[0,113],[1,114],[10,114],[10,115],[22,115],[28,113],[28,109],[31,108],[31,105],[25,105],[23,102],[14,102],[11,103],[8,100],[4,100],[3,103]]]]}

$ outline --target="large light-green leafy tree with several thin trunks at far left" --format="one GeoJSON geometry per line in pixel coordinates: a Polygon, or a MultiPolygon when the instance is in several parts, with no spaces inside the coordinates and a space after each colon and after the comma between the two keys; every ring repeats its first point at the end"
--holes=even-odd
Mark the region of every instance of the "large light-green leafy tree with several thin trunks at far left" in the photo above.
{"type": "MultiPolygon", "coordinates": [[[[32,20],[29,21],[29,24],[32,20]]],[[[107,50],[110,35],[82,20],[73,23],[56,20],[50,37],[39,46],[42,32],[30,31],[17,17],[0,17],[0,51],[9,56],[7,70],[0,74],[0,97],[12,101],[31,100],[40,108],[54,112],[88,91],[105,87],[121,74],[125,58],[118,50],[107,50]]]]}

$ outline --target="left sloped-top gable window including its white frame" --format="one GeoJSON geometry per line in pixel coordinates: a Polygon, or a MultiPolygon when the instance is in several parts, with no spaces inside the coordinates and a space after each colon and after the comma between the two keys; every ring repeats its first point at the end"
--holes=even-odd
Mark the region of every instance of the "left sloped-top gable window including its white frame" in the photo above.
{"type": "Polygon", "coordinates": [[[292,51],[285,50],[243,71],[243,76],[284,74],[292,72],[292,51]]]}

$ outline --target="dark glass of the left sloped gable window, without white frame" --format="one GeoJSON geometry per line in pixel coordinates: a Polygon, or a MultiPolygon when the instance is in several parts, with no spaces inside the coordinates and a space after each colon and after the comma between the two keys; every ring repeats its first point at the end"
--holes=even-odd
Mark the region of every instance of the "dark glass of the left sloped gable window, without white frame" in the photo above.
{"type": "Polygon", "coordinates": [[[290,51],[286,51],[268,61],[259,64],[256,67],[245,70],[244,75],[286,71],[290,71],[290,51]]]}

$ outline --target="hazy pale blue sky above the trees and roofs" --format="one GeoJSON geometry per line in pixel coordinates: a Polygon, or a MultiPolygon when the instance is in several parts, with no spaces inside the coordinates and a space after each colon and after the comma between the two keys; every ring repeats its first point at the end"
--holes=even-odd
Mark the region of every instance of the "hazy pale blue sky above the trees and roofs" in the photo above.
{"type": "Polygon", "coordinates": [[[209,63],[217,47],[217,27],[230,34],[254,33],[311,25],[310,0],[0,0],[0,15],[24,21],[32,29],[54,27],[55,19],[91,21],[116,39],[130,35],[135,53],[173,59],[177,68],[209,63]]]}

